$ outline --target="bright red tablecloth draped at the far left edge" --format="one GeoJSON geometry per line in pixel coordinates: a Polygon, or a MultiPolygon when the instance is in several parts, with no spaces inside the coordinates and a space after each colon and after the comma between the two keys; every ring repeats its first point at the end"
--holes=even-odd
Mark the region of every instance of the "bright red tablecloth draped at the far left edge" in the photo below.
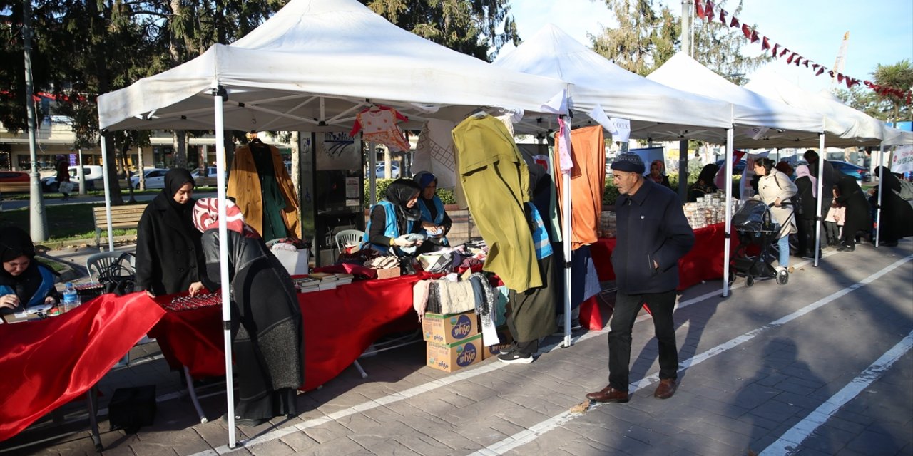
{"type": "Polygon", "coordinates": [[[101,295],[61,316],[0,325],[0,440],[89,390],[163,314],[144,293],[101,295]]]}

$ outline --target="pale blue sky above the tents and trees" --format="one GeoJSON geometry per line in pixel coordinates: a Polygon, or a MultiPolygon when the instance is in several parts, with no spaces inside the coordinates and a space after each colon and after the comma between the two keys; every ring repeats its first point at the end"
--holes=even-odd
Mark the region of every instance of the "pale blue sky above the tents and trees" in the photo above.
{"type": "MultiPolygon", "coordinates": [[[[678,0],[654,2],[668,5],[676,16],[681,15],[678,0]]],[[[729,0],[724,5],[730,14],[735,9],[731,5],[737,2],[729,0]]],[[[603,0],[510,0],[510,8],[524,39],[551,22],[589,47],[588,33],[599,35],[603,27],[614,26],[614,15],[603,0]]],[[[849,32],[843,73],[852,78],[872,80],[878,64],[903,59],[913,62],[913,0],[744,0],[736,17],[757,26],[761,36],[770,38],[771,47],[780,44],[828,68],[834,67],[844,33],[849,32]]],[[[696,22],[697,26],[702,23],[700,19],[696,22]]],[[[501,54],[507,55],[511,49],[503,47],[501,54]]],[[[761,44],[746,45],[742,52],[760,54],[761,44]]],[[[815,77],[811,68],[788,65],[785,57],[771,61],[763,71],[772,71],[810,91],[831,86],[826,73],[815,77]]]]}

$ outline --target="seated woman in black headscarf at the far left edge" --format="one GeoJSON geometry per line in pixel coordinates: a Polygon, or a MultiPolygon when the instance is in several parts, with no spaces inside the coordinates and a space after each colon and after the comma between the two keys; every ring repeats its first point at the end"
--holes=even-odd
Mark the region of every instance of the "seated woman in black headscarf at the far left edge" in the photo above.
{"type": "Polygon", "coordinates": [[[35,244],[21,228],[0,229],[0,261],[0,314],[10,315],[45,304],[56,306],[60,302],[54,287],[55,273],[35,261],[35,244]]]}

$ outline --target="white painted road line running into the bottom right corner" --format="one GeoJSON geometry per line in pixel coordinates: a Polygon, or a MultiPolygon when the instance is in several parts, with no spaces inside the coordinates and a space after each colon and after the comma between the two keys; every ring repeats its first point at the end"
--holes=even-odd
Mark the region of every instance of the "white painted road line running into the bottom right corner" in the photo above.
{"type": "Polygon", "coordinates": [[[913,332],[907,337],[897,342],[897,345],[887,350],[881,358],[878,358],[871,366],[866,368],[858,377],[853,378],[843,389],[837,391],[834,396],[824,401],[823,404],[809,413],[802,421],[796,423],[790,430],[787,430],[777,441],[771,443],[769,447],[761,451],[759,456],[779,456],[789,455],[799,451],[799,446],[822,424],[827,422],[834,413],[843,407],[846,402],[854,399],[863,389],[868,388],[876,379],[881,378],[888,368],[894,364],[897,359],[904,356],[913,347],[913,332]]]}

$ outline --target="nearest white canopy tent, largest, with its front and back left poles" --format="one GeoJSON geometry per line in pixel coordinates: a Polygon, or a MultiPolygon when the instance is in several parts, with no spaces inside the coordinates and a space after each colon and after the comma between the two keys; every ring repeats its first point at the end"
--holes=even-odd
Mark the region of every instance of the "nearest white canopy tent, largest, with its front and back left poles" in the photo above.
{"type": "MultiPolygon", "coordinates": [[[[567,88],[561,80],[493,67],[438,46],[355,0],[292,0],[232,45],[215,45],[181,66],[101,95],[99,123],[106,130],[215,130],[218,198],[225,201],[225,130],[348,130],[370,103],[394,106],[414,120],[463,119],[479,106],[562,113],[567,88]]],[[[104,178],[109,192],[107,170],[104,178]]],[[[110,225],[110,198],[106,204],[110,225]]],[[[226,238],[224,206],[219,233],[226,238]]],[[[220,247],[234,447],[227,245],[220,247]]]]}

